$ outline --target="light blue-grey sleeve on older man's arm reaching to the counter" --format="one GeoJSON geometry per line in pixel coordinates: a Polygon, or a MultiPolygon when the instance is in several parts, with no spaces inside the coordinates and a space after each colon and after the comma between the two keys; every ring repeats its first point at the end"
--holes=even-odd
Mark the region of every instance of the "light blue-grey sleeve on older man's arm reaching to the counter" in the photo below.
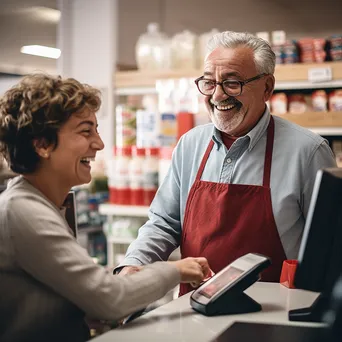
{"type": "Polygon", "coordinates": [[[137,239],[131,243],[125,259],[114,272],[122,266],[167,260],[180,245],[181,144],[182,138],[173,152],[168,173],[150,206],[149,220],[139,229],[137,239]]]}

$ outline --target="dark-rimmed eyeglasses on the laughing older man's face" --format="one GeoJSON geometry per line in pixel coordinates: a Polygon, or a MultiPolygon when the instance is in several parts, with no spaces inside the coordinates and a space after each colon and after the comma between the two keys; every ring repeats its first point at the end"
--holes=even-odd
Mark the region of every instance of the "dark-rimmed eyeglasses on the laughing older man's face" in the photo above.
{"type": "Polygon", "coordinates": [[[215,93],[217,85],[222,87],[223,92],[228,96],[239,96],[242,93],[242,87],[252,81],[258,80],[259,78],[266,76],[267,74],[260,74],[249,78],[245,81],[238,80],[224,80],[222,82],[216,82],[213,80],[208,80],[201,76],[195,80],[199,92],[205,96],[211,96],[215,93]]]}

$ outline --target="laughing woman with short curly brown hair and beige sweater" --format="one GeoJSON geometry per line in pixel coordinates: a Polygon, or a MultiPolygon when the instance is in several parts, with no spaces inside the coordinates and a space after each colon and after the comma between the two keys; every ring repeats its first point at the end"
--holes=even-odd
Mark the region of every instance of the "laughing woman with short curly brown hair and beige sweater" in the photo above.
{"type": "Polygon", "coordinates": [[[62,204],[72,186],[91,180],[104,147],[100,102],[88,85],[43,74],[0,99],[0,153],[19,174],[0,196],[3,342],[85,341],[85,315],[118,320],[208,272],[204,258],[188,258],[114,276],[76,242],[62,204]]]}

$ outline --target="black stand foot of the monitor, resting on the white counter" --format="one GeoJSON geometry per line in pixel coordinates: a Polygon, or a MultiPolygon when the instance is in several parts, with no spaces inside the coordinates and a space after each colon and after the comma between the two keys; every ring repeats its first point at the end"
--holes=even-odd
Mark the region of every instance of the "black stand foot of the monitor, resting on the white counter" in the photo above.
{"type": "Polygon", "coordinates": [[[323,314],[329,307],[330,297],[320,294],[311,306],[289,311],[289,320],[295,322],[322,322],[323,314]]]}

